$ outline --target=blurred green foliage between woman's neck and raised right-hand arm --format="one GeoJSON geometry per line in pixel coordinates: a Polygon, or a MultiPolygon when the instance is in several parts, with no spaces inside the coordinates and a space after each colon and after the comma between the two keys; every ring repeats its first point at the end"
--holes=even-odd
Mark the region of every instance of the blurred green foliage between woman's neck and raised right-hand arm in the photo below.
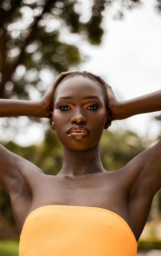
{"type": "Polygon", "coordinates": [[[115,171],[124,167],[130,160],[145,150],[136,133],[103,132],[100,141],[100,157],[107,171],[115,171]]]}

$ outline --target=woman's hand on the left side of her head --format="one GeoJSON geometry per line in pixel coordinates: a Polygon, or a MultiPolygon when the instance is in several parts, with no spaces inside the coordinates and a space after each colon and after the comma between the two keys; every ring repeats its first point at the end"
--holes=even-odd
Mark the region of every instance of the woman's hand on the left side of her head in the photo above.
{"type": "Polygon", "coordinates": [[[55,92],[55,88],[57,85],[61,82],[61,80],[66,77],[67,75],[70,75],[72,73],[75,73],[76,71],[67,71],[62,72],[54,82],[51,83],[50,87],[48,88],[47,92],[43,96],[42,100],[40,101],[41,104],[41,112],[42,117],[51,118],[50,111],[52,110],[52,102],[53,102],[53,95],[55,92]]]}

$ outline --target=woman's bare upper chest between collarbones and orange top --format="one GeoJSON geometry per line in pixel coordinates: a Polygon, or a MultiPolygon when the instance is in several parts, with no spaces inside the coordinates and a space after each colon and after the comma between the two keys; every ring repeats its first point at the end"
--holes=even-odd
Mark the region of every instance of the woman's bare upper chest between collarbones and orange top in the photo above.
{"type": "Polygon", "coordinates": [[[90,206],[110,210],[127,220],[128,206],[123,186],[106,173],[84,179],[46,175],[33,190],[30,212],[44,205],[90,206]],[[52,179],[53,178],[53,179],[52,179]]]}

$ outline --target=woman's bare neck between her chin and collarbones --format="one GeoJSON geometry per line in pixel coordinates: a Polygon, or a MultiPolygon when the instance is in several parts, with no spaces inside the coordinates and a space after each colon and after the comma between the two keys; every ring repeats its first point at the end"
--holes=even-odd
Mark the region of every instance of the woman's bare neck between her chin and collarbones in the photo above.
{"type": "Polygon", "coordinates": [[[106,172],[100,160],[99,143],[85,151],[73,151],[63,146],[64,160],[57,175],[82,176],[106,172]]]}

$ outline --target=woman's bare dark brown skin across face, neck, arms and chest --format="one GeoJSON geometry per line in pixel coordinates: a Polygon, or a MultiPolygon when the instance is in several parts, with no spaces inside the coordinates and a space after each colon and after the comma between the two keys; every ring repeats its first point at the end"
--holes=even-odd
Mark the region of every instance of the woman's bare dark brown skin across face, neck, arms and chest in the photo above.
{"type": "Polygon", "coordinates": [[[29,213],[41,206],[90,206],[104,208],[121,216],[138,241],[153,197],[161,188],[161,141],[114,172],[106,172],[102,166],[99,143],[103,130],[110,126],[111,121],[161,110],[161,90],[118,102],[105,81],[87,72],[106,88],[110,110],[106,113],[102,91],[94,82],[77,77],[57,87],[66,75],[74,72],[62,73],[41,101],[0,99],[0,117],[48,118],[64,150],[62,168],[54,176],[44,174],[28,160],[0,145],[0,186],[10,195],[20,233],[29,213]],[[54,111],[51,112],[55,88],[57,95],[54,111]],[[58,100],[60,96],[73,99],[58,100]],[[83,100],[87,96],[97,96],[100,100],[83,100]],[[99,107],[92,110],[89,106],[95,103],[99,107]],[[66,104],[68,110],[62,110],[64,107],[59,109],[62,104],[66,104]],[[69,137],[67,131],[74,125],[87,127],[90,135],[82,139],[69,137]]]}

